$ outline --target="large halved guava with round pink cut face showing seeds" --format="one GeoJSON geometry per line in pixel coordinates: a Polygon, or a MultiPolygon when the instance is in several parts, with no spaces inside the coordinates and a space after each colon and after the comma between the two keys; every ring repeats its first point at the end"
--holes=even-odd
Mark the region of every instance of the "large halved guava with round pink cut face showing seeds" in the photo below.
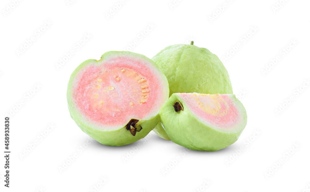
{"type": "Polygon", "coordinates": [[[127,51],[86,60],[73,71],[67,90],[76,124],[112,146],[133,143],[153,130],[168,96],[168,81],[155,62],[127,51]]]}

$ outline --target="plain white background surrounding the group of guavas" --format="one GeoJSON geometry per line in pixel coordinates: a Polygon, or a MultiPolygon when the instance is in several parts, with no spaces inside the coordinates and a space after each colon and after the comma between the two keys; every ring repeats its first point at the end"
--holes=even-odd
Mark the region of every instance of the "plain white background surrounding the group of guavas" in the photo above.
{"type": "Polygon", "coordinates": [[[13,2],[0,5],[1,127],[11,112],[11,183],[3,186],[1,155],[1,191],[310,191],[309,1],[13,2]],[[248,115],[239,140],[216,152],[185,150],[153,132],[122,147],[87,144],[67,108],[73,70],[107,51],[152,58],[190,40],[228,70],[248,115]]]}

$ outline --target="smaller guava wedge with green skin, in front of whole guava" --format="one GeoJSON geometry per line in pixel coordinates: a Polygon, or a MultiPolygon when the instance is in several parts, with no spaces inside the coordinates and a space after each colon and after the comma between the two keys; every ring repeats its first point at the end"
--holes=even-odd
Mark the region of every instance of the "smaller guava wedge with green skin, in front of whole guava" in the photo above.
{"type": "Polygon", "coordinates": [[[159,115],[174,143],[199,151],[233,144],[247,121],[245,108],[233,94],[172,94],[159,115]]]}

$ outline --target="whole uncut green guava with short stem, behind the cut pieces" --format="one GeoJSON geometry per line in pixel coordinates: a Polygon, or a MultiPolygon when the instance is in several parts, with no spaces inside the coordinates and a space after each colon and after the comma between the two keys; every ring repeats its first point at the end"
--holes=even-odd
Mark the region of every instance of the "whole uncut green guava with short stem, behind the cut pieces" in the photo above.
{"type": "MultiPolygon", "coordinates": [[[[162,69],[174,93],[232,94],[228,72],[215,54],[199,48],[192,41],[171,45],[157,53],[152,60],[162,69]]],[[[170,140],[160,123],[154,132],[170,140]]]]}

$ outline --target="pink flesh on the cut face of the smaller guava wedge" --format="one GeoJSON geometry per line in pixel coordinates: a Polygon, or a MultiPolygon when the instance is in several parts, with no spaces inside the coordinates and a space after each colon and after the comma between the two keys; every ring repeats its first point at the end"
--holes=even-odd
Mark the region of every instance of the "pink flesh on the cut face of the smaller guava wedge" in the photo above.
{"type": "Polygon", "coordinates": [[[228,95],[178,94],[198,118],[219,128],[232,128],[240,121],[240,113],[228,95]]]}

